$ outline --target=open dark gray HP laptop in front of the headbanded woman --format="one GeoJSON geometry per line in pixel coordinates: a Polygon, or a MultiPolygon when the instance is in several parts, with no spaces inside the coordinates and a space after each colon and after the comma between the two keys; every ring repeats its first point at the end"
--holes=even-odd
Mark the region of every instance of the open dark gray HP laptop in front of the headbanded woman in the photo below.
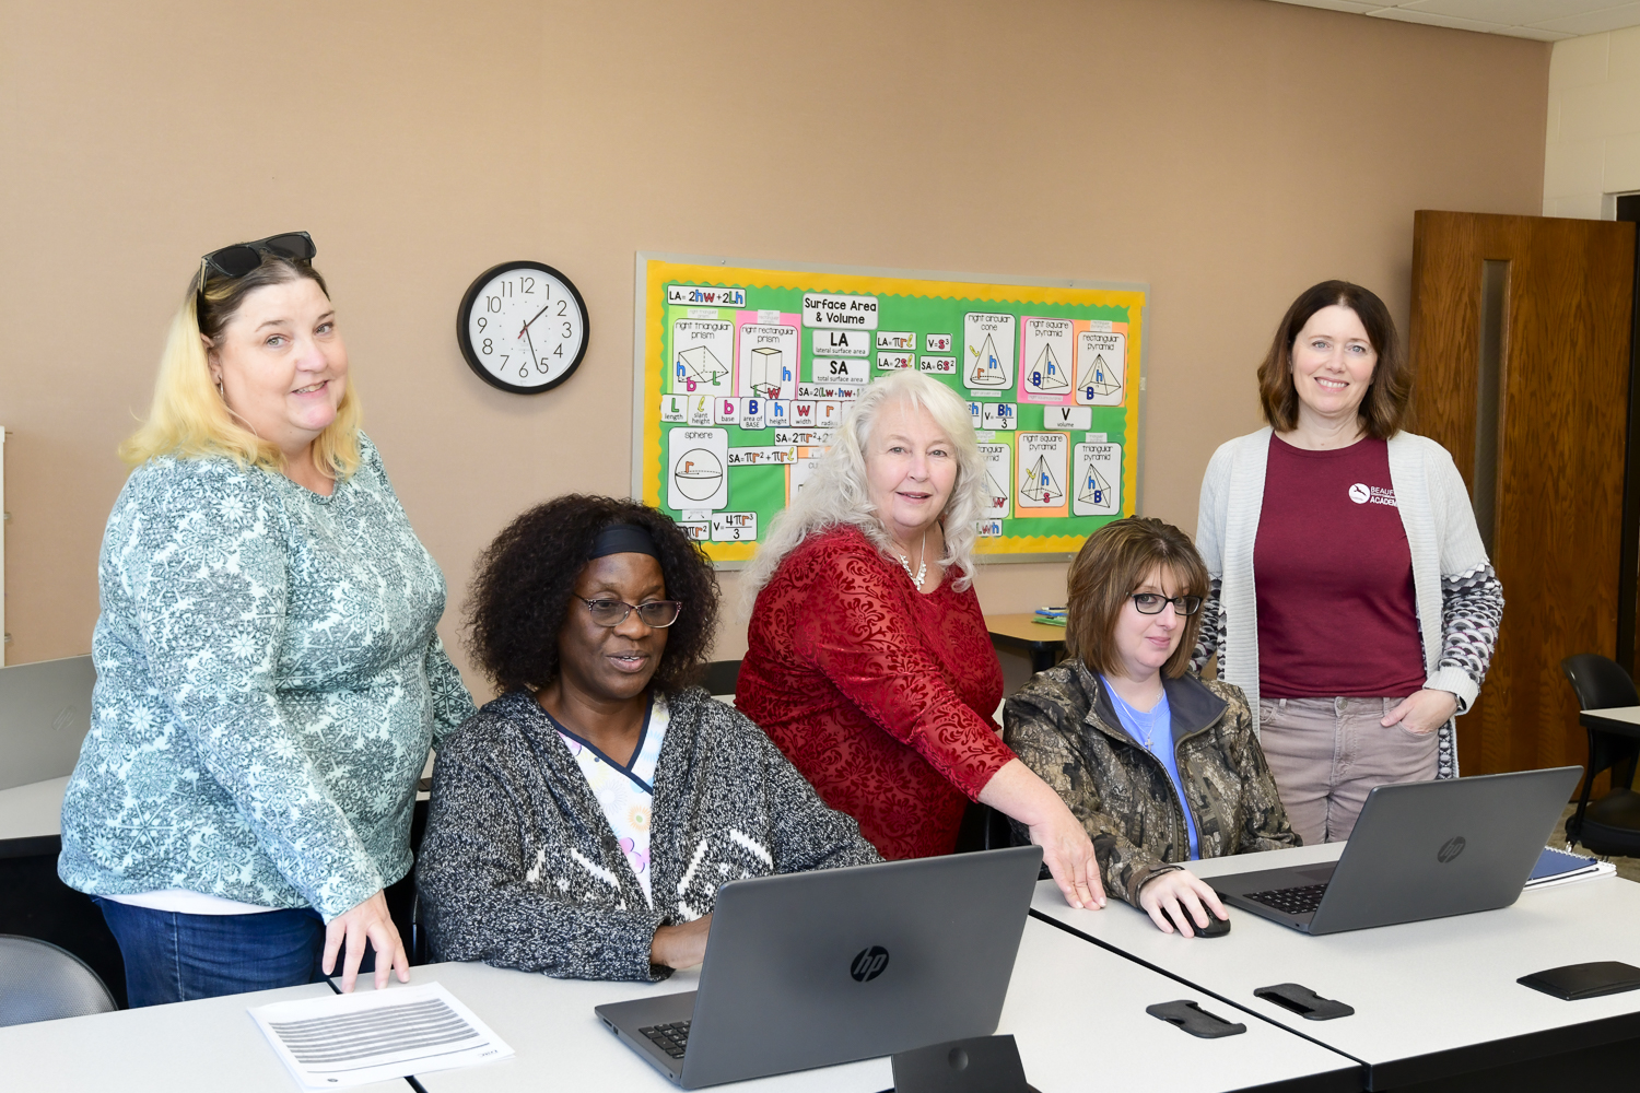
{"type": "Polygon", "coordinates": [[[597,1006],[686,1090],[991,1036],[1041,847],[736,880],[700,988],[597,1006]]]}

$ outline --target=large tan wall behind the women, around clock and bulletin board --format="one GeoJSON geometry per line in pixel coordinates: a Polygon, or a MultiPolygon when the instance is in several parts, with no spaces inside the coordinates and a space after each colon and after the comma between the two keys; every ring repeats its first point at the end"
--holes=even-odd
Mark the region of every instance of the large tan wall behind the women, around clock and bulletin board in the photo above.
{"type": "MultiPolygon", "coordinates": [[[[318,241],[449,639],[505,519],[628,490],[640,249],[1150,282],[1145,510],[1194,528],[1301,288],[1404,321],[1414,210],[1542,202],[1548,46],[1263,0],[0,0],[0,51],[11,662],[89,649],[115,444],[236,239],[318,241]],[[454,344],[515,257],[592,315],[544,397],[454,344]]],[[[979,592],[1028,610],[1063,570],[979,592]]]]}

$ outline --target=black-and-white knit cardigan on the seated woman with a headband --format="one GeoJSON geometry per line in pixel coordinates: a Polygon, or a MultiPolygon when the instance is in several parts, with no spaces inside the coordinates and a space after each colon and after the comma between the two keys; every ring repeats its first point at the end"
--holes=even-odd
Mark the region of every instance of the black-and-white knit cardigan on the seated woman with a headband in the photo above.
{"type": "Polygon", "coordinates": [[[708,914],[725,882],[881,860],[745,714],[704,690],[671,695],[667,711],[653,908],[530,695],[502,695],[444,739],[417,864],[435,960],[661,980],[671,968],[649,964],[656,927],[708,914]]]}

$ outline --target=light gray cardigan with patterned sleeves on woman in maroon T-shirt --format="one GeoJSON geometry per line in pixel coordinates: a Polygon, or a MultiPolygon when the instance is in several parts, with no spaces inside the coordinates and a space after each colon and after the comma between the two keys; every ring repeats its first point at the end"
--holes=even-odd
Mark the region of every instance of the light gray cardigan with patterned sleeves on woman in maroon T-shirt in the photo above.
{"type": "MultiPolygon", "coordinates": [[[[1202,478],[1196,547],[1212,592],[1202,608],[1191,664],[1200,670],[1219,652],[1219,678],[1240,687],[1258,726],[1258,592],[1253,542],[1264,505],[1271,429],[1238,436],[1214,452],[1202,478]]],[[[1469,492],[1445,447],[1415,433],[1389,438],[1389,482],[1412,551],[1412,587],[1424,641],[1424,687],[1469,708],[1486,678],[1504,616],[1504,587],[1474,526],[1469,492]]],[[[1456,721],[1438,737],[1438,778],[1458,777],[1456,721]]]]}

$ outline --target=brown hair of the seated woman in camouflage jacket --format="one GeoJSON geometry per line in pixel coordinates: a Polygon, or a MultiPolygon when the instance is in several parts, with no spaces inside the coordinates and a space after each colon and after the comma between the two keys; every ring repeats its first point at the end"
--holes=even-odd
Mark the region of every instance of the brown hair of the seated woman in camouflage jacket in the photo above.
{"type": "MultiPolygon", "coordinates": [[[[1128,596],[1161,565],[1179,582],[1176,596],[1207,598],[1207,567],[1196,552],[1191,537],[1151,516],[1117,519],[1087,536],[1071,572],[1069,611],[1064,628],[1064,647],[1092,672],[1105,675],[1123,673],[1122,657],[1115,647],[1117,618],[1128,596]]],[[[1191,651],[1202,633],[1202,613],[1184,619],[1179,647],[1161,665],[1163,675],[1179,678],[1191,665],[1191,651]]]]}

